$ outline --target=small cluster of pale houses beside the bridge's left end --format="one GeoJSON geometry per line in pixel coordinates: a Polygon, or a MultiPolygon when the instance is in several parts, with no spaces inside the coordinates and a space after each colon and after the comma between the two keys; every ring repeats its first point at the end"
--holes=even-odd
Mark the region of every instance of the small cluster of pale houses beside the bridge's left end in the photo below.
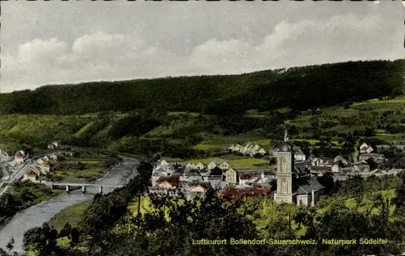
{"type": "Polygon", "coordinates": [[[51,164],[56,163],[58,159],[57,153],[49,154],[45,157],[37,159],[30,166],[27,173],[24,174],[22,180],[38,183],[46,180],[46,175],[50,173],[51,164]]]}

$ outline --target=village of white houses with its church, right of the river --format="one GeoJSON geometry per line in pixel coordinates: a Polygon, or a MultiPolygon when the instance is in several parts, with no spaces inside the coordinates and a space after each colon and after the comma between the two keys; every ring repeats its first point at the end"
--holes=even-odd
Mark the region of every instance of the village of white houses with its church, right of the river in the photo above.
{"type": "MultiPolygon", "coordinates": [[[[387,147],[395,146],[378,145],[378,149],[387,147]]],[[[209,189],[214,189],[220,196],[232,199],[244,195],[271,195],[276,202],[315,205],[324,189],[317,179],[326,173],[332,175],[334,181],[344,181],[353,175],[363,178],[397,175],[402,170],[371,168],[370,161],[378,164],[388,159],[376,153],[367,143],[360,145],[360,154],[352,161],[341,156],[334,159],[307,157],[300,147],[288,142],[287,132],[284,141],[271,152],[265,152],[263,147],[253,143],[230,145],[228,151],[247,156],[268,155],[269,161],[277,159],[277,168],[237,169],[220,158],[213,158],[207,165],[160,159],[154,166],[149,193],[177,195],[178,191],[182,191],[191,200],[196,196],[204,197],[209,189]]]]}

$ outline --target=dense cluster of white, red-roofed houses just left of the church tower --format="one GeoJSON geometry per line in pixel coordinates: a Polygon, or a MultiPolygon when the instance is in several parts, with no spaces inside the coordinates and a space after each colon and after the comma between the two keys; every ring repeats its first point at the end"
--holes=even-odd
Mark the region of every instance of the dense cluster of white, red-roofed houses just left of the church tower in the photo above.
{"type": "Polygon", "coordinates": [[[274,171],[235,170],[223,159],[212,159],[207,165],[168,163],[161,159],[154,166],[149,193],[175,195],[177,191],[182,191],[184,196],[191,200],[197,195],[204,197],[209,189],[220,192],[230,187],[249,190],[260,186],[265,187],[265,193],[270,194],[274,179],[274,171]]]}

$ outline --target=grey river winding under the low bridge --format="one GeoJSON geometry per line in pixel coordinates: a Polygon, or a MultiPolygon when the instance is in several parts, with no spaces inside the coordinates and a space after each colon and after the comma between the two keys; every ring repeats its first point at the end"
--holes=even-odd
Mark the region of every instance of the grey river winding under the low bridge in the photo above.
{"type": "MultiPolygon", "coordinates": [[[[136,167],[138,160],[129,157],[121,157],[123,161],[110,168],[103,178],[98,179],[95,184],[104,185],[123,185],[137,174],[136,167]]],[[[114,188],[103,188],[103,193],[110,193],[114,188]]],[[[0,230],[0,248],[5,248],[11,237],[14,237],[14,250],[22,252],[24,232],[32,227],[41,226],[43,223],[50,221],[59,211],[84,202],[94,197],[98,193],[98,187],[88,187],[87,193],[81,190],[72,191],[58,195],[50,200],[33,205],[24,211],[20,211],[0,230]]]]}

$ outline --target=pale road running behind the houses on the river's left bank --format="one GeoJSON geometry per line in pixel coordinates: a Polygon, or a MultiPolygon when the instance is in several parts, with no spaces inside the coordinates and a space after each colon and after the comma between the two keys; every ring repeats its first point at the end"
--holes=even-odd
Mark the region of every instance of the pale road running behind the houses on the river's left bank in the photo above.
{"type": "Polygon", "coordinates": [[[52,154],[54,152],[59,152],[61,150],[62,149],[48,150],[47,152],[43,152],[43,153],[40,153],[40,154],[34,154],[31,158],[26,159],[24,161],[24,163],[22,163],[21,166],[18,166],[18,170],[15,171],[15,173],[13,173],[13,175],[9,175],[9,173],[7,173],[5,168],[4,168],[4,163],[1,163],[0,164],[1,171],[3,172],[3,174],[6,174],[7,177],[5,176],[0,180],[0,196],[3,195],[3,193],[6,193],[6,191],[8,189],[10,189],[10,186],[13,186],[15,184],[15,182],[22,179],[22,177],[24,176],[24,173],[27,173],[27,170],[29,170],[29,168],[31,167],[34,160],[36,160],[36,159],[38,159],[40,157],[44,157],[47,154],[52,154]],[[7,185],[4,186],[4,184],[6,184],[6,183],[7,183],[7,185]]]}

